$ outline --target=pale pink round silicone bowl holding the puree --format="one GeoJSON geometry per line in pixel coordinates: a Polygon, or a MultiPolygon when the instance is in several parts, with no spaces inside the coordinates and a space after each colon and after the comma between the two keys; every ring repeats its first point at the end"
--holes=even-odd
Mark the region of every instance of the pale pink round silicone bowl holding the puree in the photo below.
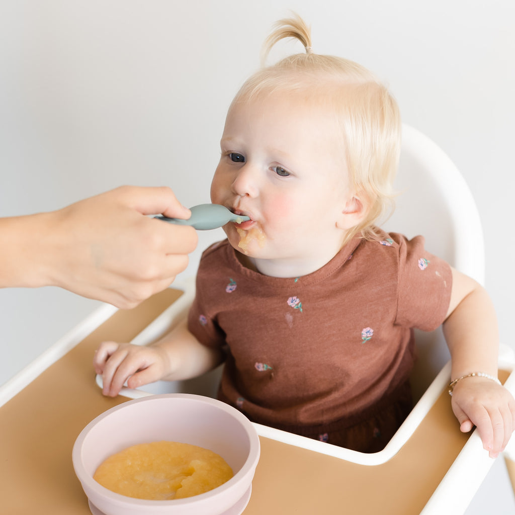
{"type": "Polygon", "coordinates": [[[72,453],[85,494],[105,515],[222,515],[248,495],[259,456],[258,433],[237,409],[185,393],[135,399],[105,411],[84,427],[72,453]],[[210,449],[227,461],[234,476],[209,492],[171,501],[133,499],[93,479],[111,454],[136,443],[161,440],[210,449]]]}

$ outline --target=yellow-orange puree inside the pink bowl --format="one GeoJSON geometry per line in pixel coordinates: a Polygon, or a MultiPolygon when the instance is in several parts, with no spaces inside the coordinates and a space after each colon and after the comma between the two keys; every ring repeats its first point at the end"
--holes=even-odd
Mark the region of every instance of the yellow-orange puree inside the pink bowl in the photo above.
{"type": "Polygon", "coordinates": [[[113,492],[136,499],[182,499],[224,484],[233,476],[218,454],[197,445],[151,442],[109,456],[93,479],[113,492]]]}

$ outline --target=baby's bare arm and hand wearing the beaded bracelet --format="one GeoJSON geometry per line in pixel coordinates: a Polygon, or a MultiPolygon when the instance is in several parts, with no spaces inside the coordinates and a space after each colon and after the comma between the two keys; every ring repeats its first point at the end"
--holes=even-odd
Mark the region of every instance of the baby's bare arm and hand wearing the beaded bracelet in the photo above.
{"type": "MultiPolygon", "coordinates": [[[[452,270],[453,286],[445,339],[451,351],[451,379],[473,372],[497,377],[499,339],[492,301],[476,281],[452,270]]],[[[462,432],[475,425],[483,447],[496,457],[515,427],[515,401],[510,392],[486,377],[466,377],[453,390],[452,408],[462,432]]]]}

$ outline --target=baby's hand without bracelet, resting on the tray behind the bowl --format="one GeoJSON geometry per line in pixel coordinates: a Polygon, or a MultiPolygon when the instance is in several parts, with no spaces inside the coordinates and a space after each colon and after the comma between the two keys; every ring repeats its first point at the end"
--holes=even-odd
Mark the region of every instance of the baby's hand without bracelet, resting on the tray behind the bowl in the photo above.
{"type": "Polygon", "coordinates": [[[166,353],[159,347],[104,341],[95,352],[93,367],[102,375],[102,393],[116,397],[125,381],[129,388],[137,388],[162,379],[167,362],[166,353]]]}

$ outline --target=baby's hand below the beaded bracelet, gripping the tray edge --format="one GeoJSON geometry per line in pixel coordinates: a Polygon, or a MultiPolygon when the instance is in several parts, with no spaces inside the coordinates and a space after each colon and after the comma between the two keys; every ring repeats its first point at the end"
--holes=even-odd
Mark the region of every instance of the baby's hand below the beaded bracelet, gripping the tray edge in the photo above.
{"type": "Polygon", "coordinates": [[[466,377],[454,386],[452,409],[460,430],[475,425],[491,458],[504,450],[515,429],[515,400],[511,393],[484,377],[466,377]]]}

